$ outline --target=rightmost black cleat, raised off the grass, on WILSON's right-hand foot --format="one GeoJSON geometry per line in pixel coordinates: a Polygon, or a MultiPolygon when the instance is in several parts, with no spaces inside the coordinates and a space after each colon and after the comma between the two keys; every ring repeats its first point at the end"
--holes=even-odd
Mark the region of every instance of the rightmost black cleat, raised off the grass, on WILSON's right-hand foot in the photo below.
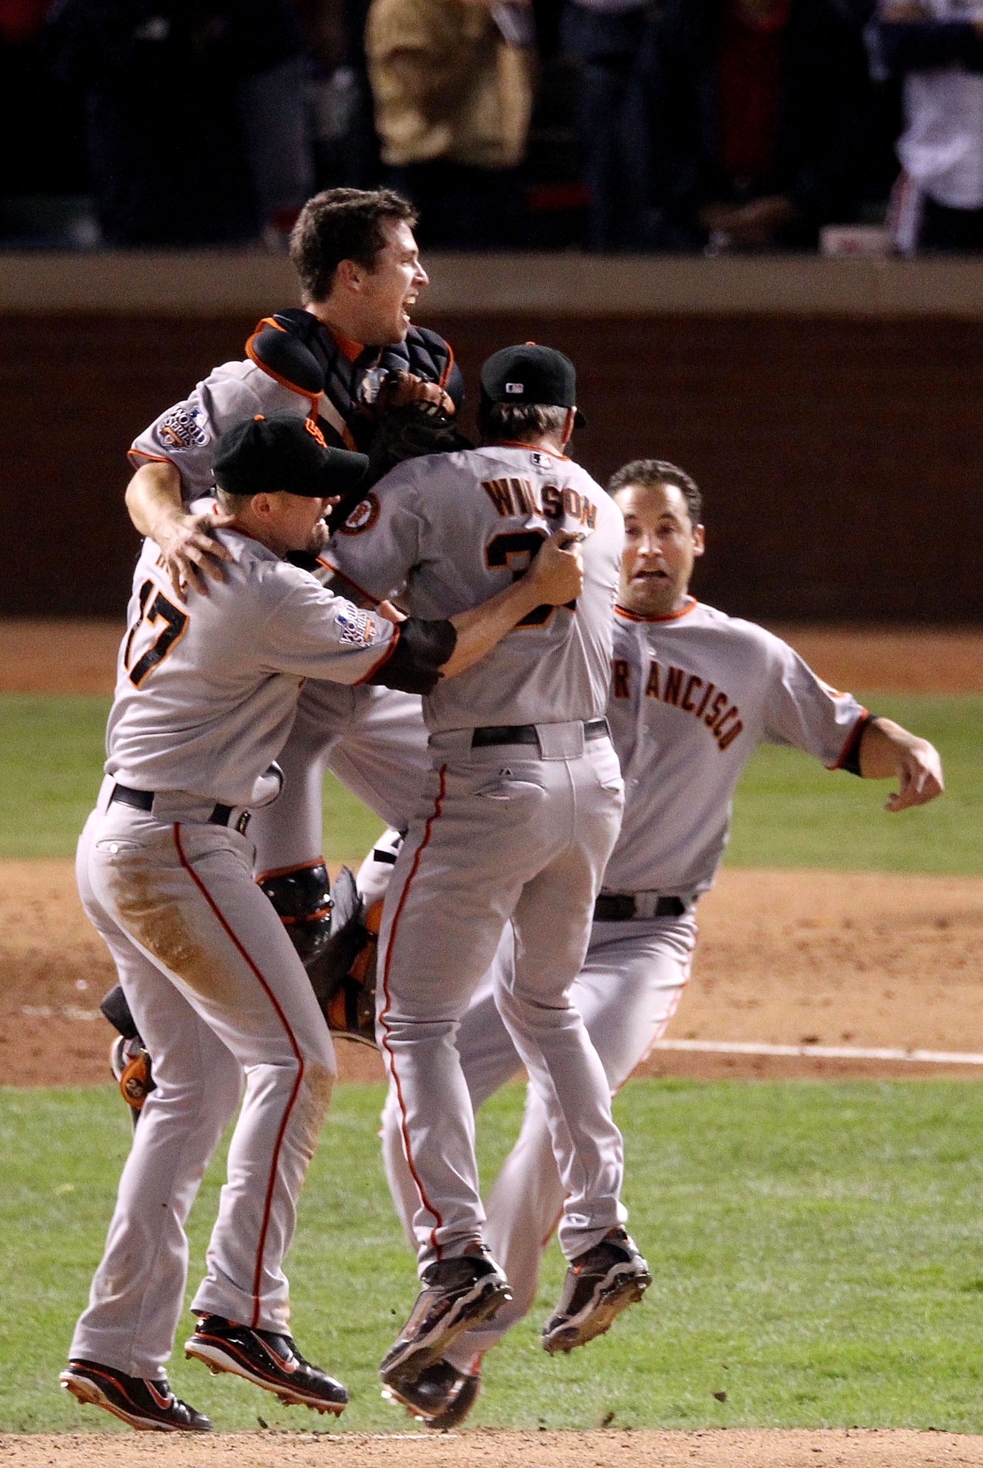
{"type": "Polygon", "coordinates": [[[572,1351],[603,1336],[616,1315],[651,1284],[648,1265],[624,1229],[571,1261],[556,1314],[543,1326],[543,1351],[572,1351]]]}

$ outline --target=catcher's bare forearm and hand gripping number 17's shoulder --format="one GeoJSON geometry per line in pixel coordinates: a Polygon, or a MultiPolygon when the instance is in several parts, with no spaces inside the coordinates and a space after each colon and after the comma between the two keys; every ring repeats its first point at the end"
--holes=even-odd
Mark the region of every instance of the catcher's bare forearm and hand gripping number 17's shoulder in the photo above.
{"type": "Polygon", "coordinates": [[[180,600],[185,586],[207,590],[202,573],[222,580],[222,562],[232,558],[210,530],[232,524],[232,515],[186,515],[180,474],[173,464],[157,459],[141,464],[126,486],[126,508],[141,536],[150,536],[160,546],[164,570],[180,600]]]}

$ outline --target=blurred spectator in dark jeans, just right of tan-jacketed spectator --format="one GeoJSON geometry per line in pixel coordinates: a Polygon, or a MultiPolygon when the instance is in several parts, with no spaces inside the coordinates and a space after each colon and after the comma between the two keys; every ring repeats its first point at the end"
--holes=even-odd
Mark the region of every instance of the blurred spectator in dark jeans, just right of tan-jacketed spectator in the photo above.
{"type": "Polygon", "coordinates": [[[644,250],[650,242],[644,38],[650,0],[569,0],[560,22],[581,63],[578,135],[590,195],[588,250],[644,250]]]}

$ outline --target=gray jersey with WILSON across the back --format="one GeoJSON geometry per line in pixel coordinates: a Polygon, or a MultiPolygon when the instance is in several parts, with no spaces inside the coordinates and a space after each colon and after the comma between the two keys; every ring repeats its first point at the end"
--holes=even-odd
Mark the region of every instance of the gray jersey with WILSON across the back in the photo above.
{"type": "Polygon", "coordinates": [[[329,558],[359,589],[401,589],[415,617],[453,617],[521,575],[550,530],[584,534],[577,611],[540,606],[424,699],[433,731],[603,715],[624,523],[572,459],[527,445],[399,464],[357,505],[329,558]]]}

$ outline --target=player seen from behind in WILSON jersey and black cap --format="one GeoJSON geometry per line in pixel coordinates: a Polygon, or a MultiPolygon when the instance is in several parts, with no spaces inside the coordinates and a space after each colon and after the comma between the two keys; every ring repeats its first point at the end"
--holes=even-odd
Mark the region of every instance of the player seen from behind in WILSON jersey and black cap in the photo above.
{"type": "Polygon", "coordinates": [[[424,699],[433,768],[379,941],[379,1038],[415,1188],[424,1286],[381,1362],[383,1383],[396,1389],[508,1299],[483,1238],[474,1120],[453,1036],[509,919],[515,964],[494,1000],[547,1117],[571,1261],[546,1348],[606,1330],[650,1283],[622,1227],[622,1144],[607,1082],[568,998],[621,824],[604,708],[622,523],[563,452],[577,408],[562,352],[531,344],[496,352],[481,393],[487,446],[399,465],[332,545],[358,586],[377,596],[402,586],[411,611],[443,617],[522,574],[552,526],[584,537],[577,605],[537,608],[483,668],[424,699]],[[587,1282],[590,1301],[581,1301],[587,1282]]]}

